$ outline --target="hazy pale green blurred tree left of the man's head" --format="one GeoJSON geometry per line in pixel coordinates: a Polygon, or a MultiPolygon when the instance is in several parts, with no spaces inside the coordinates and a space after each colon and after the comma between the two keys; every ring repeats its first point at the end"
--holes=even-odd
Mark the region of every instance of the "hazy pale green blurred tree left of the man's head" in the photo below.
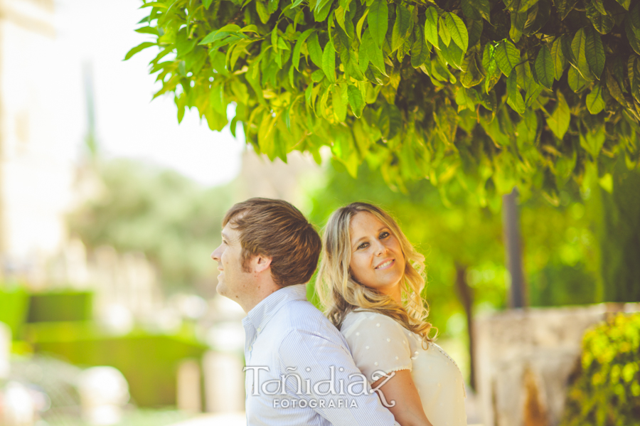
{"type": "Polygon", "coordinates": [[[102,191],[70,216],[71,231],[90,249],[144,252],[168,289],[210,287],[202,281],[214,272],[208,254],[220,241],[230,186],[202,188],[135,161],[106,162],[98,174],[102,191]]]}

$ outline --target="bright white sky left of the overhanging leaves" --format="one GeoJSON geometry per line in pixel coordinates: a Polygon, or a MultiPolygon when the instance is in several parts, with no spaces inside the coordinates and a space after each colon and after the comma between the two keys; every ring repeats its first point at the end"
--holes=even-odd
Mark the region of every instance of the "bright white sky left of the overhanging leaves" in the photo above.
{"type": "Polygon", "coordinates": [[[211,132],[196,110],[187,111],[178,124],[171,97],[151,102],[159,87],[148,73],[154,48],[122,61],[130,48],[149,40],[134,32],[146,12],[138,9],[140,4],[136,0],[57,0],[58,45],[63,56],[78,59],[63,67],[92,65],[102,154],[144,159],[206,185],[230,181],[240,171],[243,138],[234,139],[228,128],[211,132]]]}

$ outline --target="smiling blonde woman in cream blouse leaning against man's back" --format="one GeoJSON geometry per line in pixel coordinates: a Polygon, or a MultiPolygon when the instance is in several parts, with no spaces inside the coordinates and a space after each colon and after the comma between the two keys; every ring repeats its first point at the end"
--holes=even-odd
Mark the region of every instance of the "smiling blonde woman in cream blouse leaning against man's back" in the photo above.
{"type": "Polygon", "coordinates": [[[351,203],[324,231],[320,297],[400,425],[466,426],[462,374],[425,321],[424,260],[388,213],[351,203]]]}

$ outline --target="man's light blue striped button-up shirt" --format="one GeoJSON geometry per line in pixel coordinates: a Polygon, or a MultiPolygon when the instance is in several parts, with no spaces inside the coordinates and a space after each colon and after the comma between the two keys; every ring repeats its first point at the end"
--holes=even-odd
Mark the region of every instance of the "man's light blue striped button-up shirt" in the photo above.
{"type": "Polygon", "coordinates": [[[247,425],[399,426],[304,284],[270,294],[242,325],[247,425]]]}

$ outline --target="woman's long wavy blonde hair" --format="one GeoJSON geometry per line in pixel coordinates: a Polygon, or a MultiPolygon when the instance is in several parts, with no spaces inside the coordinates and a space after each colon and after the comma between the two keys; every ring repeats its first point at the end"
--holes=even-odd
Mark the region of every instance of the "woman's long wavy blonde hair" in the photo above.
{"type": "Polygon", "coordinates": [[[429,313],[420,294],[425,288],[425,256],[415,250],[398,223],[381,208],[368,203],[351,203],[338,208],[329,218],[322,238],[324,250],[318,272],[318,289],[325,315],[338,329],[346,314],[354,309],[374,311],[398,321],[405,329],[422,336],[423,342],[433,340],[429,336],[432,325],[427,322],[429,313]],[[402,275],[402,306],[385,294],[360,284],[351,275],[351,218],[367,212],[378,218],[398,238],[405,258],[402,275]]]}

